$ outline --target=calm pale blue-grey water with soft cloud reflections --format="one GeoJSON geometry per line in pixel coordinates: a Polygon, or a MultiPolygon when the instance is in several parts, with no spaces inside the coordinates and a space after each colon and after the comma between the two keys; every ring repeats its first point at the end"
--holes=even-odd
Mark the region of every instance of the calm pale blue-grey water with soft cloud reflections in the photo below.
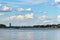
{"type": "Polygon", "coordinates": [[[0,29],[0,40],[60,40],[60,30],[0,29]]]}

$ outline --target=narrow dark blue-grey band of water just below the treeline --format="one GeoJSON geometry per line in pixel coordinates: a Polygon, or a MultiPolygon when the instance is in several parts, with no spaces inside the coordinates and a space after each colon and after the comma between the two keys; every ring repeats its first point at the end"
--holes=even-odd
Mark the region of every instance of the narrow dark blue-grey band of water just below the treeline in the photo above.
{"type": "Polygon", "coordinates": [[[60,30],[60,28],[0,28],[0,29],[19,29],[19,30],[60,30]]]}

